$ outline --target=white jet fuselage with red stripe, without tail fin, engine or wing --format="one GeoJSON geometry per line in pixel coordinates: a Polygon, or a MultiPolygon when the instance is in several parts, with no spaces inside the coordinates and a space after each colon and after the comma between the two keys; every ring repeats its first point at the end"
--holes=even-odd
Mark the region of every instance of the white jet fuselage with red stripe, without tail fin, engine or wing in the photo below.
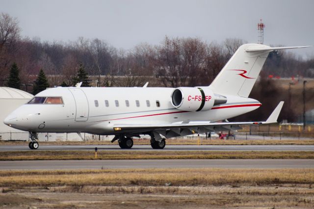
{"type": "MultiPolygon", "coordinates": [[[[24,104],[4,123],[31,132],[88,132],[115,134],[114,124],[169,124],[190,121],[216,122],[258,108],[260,102],[228,96],[227,103],[207,111],[174,107],[174,88],[159,87],[56,87],[36,97],[61,98],[60,104],[24,104]]],[[[192,95],[193,96],[193,95],[192,95]]],[[[189,97],[192,98],[192,96],[189,97]]],[[[213,96],[213,95],[212,95],[213,96]]]]}

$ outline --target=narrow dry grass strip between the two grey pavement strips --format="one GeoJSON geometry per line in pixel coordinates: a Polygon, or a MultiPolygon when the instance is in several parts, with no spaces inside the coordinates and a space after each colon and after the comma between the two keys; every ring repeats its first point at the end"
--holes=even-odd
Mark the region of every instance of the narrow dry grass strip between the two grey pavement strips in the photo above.
{"type": "MultiPolygon", "coordinates": [[[[0,160],[96,159],[94,151],[5,151],[0,160]]],[[[98,151],[97,159],[314,159],[313,151],[98,151]]]]}

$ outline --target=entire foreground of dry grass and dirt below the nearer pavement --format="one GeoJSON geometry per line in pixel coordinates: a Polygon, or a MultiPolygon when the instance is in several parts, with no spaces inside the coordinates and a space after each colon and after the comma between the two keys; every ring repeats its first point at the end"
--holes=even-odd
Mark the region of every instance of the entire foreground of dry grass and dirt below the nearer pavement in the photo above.
{"type": "Polygon", "coordinates": [[[0,171],[0,207],[313,208],[313,183],[314,169],[0,171]]]}

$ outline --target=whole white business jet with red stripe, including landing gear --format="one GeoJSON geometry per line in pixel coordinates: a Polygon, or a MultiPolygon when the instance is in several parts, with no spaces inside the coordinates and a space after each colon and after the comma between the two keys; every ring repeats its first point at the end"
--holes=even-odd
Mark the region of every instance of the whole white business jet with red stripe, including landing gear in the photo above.
{"type": "Polygon", "coordinates": [[[123,149],[133,146],[132,137],[148,134],[152,148],[163,149],[166,144],[163,137],[276,123],[284,102],[264,122],[228,122],[227,119],[262,105],[248,96],[268,53],[292,48],[304,47],[244,44],[209,86],[50,88],[14,110],[4,123],[29,131],[30,149],[38,148],[38,132],[115,135],[112,142],[118,140],[123,149]]]}

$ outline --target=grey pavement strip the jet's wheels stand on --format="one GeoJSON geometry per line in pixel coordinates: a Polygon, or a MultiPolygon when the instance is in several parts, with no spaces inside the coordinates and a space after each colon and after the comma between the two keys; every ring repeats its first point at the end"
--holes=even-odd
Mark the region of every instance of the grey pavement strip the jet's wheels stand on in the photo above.
{"type": "MultiPolygon", "coordinates": [[[[119,145],[41,145],[38,150],[94,150],[130,151],[119,145]]],[[[1,145],[1,151],[28,151],[27,145],[1,145]]],[[[152,149],[150,145],[134,145],[133,151],[314,151],[314,145],[166,145],[163,150],[152,149]]]]}

